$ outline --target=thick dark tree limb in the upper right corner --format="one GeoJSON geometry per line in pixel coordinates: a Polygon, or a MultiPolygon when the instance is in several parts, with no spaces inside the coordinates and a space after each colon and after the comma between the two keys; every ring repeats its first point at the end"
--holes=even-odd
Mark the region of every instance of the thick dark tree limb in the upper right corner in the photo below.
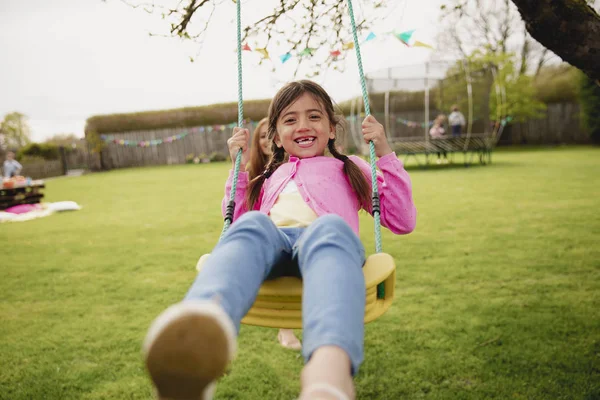
{"type": "Polygon", "coordinates": [[[512,0],[527,31],[600,84],[600,16],[585,0],[512,0]]]}

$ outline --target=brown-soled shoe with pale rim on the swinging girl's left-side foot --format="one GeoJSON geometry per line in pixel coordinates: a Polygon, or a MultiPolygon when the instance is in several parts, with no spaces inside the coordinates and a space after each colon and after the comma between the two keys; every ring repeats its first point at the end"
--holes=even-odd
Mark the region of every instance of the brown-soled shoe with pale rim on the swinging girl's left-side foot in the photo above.
{"type": "Polygon", "coordinates": [[[235,327],[214,302],[186,301],[160,314],[144,341],[161,400],[210,400],[236,350],[235,327]]]}

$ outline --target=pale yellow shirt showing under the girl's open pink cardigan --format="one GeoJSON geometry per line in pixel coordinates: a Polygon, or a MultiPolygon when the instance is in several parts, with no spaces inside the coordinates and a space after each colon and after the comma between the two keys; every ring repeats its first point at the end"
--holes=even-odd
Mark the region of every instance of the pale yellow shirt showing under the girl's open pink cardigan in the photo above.
{"type": "Polygon", "coordinates": [[[307,227],[318,217],[300,196],[293,179],[290,179],[277,197],[269,216],[271,221],[279,227],[299,228],[307,227]]]}

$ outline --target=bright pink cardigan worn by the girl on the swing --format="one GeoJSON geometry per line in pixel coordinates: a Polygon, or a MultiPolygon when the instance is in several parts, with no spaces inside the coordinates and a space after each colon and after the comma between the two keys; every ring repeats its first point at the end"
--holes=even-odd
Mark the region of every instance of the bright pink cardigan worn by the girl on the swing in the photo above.
{"type": "MultiPolygon", "coordinates": [[[[371,167],[363,159],[349,157],[365,174],[371,186],[371,167]]],[[[410,177],[404,170],[396,154],[391,153],[377,161],[377,183],[381,204],[381,224],[396,234],[410,233],[415,229],[417,210],[412,199],[410,177]]],[[[313,211],[321,216],[337,214],[342,217],[358,235],[358,211],[360,205],[346,175],[343,162],[333,157],[313,157],[298,159],[290,157],[263,184],[255,209],[269,214],[279,193],[290,179],[294,178],[300,195],[313,211]]],[[[233,170],[225,184],[225,197],[222,211],[225,215],[227,202],[233,183],[233,170]]],[[[240,172],[235,195],[235,221],[246,207],[248,172],[240,172]]],[[[371,213],[371,207],[367,212],[371,213]]]]}

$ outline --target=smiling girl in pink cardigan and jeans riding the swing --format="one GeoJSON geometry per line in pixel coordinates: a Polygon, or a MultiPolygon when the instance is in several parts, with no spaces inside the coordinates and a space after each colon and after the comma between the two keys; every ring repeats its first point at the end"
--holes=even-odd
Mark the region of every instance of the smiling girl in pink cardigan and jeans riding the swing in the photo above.
{"type": "MultiPolygon", "coordinates": [[[[272,154],[265,170],[252,181],[240,172],[233,224],[184,300],[159,315],[146,335],[146,366],[160,399],[212,398],[261,284],[283,275],[303,280],[300,399],[355,398],[366,290],[358,211],[371,212],[370,166],[337,151],[340,117],[314,82],[285,85],[268,119],[272,154]],[[333,157],[324,156],[326,149],[333,157]]],[[[396,234],[410,233],[416,223],[410,178],[373,116],[363,121],[362,134],[379,157],[381,223],[396,234]]],[[[240,128],[228,141],[242,150],[240,171],[248,141],[240,128]]],[[[226,199],[234,178],[230,172],[226,199]]]]}

